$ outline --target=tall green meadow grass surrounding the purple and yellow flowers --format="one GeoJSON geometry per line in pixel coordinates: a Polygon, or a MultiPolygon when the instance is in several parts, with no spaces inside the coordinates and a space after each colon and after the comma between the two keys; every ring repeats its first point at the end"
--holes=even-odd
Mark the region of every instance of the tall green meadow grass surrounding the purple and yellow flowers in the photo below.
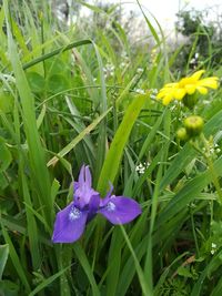
{"type": "MultiPolygon", "coordinates": [[[[170,69],[182,47],[171,54],[140,8],[154,58],[134,52],[118,21],[65,29],[47,1],[3,1],[0,295],[222,295],[221,91],[195,106],[204,139],[178,141],[190,111],[152,90],[180,76],[170,69]],[[142,215],[120,226],[97,216],[79,242],[53,244],[82,164],[103,196],[111,182],[142,215]]],[[[204,69],[221,75],[210,60],[204,69]]]]}

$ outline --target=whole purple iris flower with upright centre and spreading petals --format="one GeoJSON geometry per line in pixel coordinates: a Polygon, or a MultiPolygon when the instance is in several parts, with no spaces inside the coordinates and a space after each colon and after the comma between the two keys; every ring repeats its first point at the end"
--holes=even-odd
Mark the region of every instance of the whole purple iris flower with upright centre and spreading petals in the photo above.
{"type": "Polygon", "coordinates": [[[74,182],[73,201],[57,214],[52,235],[53,243],[73,243],[84,227],[100,213],[112,224],[124,224],[141,214],[140,205],[124,196],[112,195],[113,187],[104,198],[92,188],[89,166],[82,165],[79,180],[74,182]]]}

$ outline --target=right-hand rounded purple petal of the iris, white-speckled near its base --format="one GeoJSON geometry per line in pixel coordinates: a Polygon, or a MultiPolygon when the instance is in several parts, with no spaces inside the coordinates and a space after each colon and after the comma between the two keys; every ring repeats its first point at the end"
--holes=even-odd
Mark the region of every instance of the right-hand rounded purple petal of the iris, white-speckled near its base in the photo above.
{"type": "Polygon", "coordinates": [[[98,213],[102,214],[112,224],[124,224],[141,214],[140,205],[132,198],[112,195],[107,205],[98,213]]]}

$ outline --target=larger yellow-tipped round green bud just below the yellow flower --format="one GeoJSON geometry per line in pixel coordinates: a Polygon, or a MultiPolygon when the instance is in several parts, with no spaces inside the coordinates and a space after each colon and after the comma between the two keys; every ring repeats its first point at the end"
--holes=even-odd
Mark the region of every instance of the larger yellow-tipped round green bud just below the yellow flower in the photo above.
{"type": "Polygon", "coordinates": [[[203,130],[203,119],[198,115],[191,115],[186,118],[183,125],[189,136],[200,135],[203,130]]]}

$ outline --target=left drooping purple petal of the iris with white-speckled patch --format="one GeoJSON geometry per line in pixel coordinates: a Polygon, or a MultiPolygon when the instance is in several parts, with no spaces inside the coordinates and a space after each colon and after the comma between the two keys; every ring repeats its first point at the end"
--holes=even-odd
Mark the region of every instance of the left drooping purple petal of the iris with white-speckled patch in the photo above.
{"type": "Polygon", "coordinates": [[[73,203],[64,207],[57,214],[53,243],[73,243],[80,238],[84,232],[88,213],[81,212],[73,203]]]}

